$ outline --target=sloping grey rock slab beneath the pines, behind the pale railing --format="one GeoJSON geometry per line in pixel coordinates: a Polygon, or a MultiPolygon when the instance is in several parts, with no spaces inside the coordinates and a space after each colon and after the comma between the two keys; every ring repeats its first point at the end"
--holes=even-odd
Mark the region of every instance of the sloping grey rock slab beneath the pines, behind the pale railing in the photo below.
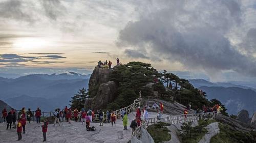
{"type": "MultiPolygon", "coordinates": [[[[178,102],[168,102],[168,101],[164,101],[164,100],[160,100],[160,99],[154,99],[154,101],[156,101],[158,103],[158,105],[163,102],[163,112],[166,113],[167,115],[181,115],[184,113],[184,110],[186,108],[186,106],[178,103],[178,102]]],[[[150,107],[152,107],[154,101],[147,101],[144,100],[143,102],[147,102],[148,105],[150,105],[150,107]]],[[[154,109],[150,109],[150,111],[157,111],[154,109]]],[[[195,110],[190,109],[188,111],[188,113],[195,113],[195,110]]]]}

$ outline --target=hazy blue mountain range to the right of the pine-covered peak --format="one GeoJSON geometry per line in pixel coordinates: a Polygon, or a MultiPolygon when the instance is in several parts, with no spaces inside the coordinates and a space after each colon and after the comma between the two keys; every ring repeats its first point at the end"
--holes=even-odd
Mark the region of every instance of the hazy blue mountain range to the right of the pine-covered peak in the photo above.
{"type": "Polygon", "coordinates": [[[237,115],[240,110],[246,109],[252,116],[256,111],[256,89],[252,87],[229,82],[213,83],[203,79],[190,79],[189,82],[206,92],[208,99],[220,100],[229,114],[237,115]]]}

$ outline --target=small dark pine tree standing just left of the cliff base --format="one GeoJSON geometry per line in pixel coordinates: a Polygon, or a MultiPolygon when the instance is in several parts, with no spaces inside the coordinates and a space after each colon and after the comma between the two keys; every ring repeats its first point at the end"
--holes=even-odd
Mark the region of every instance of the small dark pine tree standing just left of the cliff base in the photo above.
{"type": "Polygon", "coordinates": [[[70,102],[70,106],[72,109],[77,108],[80,110],[84,107],[84,104],[86,103],[86,100],[88,98],[88,91],[85,88],[82,88],[77,92],[77,94],[74,95],[74,97],[71,97],[72,100],[70,102]]]}

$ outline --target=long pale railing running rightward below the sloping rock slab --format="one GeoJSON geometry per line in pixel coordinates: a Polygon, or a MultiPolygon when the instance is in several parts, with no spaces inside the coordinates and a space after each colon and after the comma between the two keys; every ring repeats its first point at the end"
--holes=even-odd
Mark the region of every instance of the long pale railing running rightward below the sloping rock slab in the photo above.
{"type": "Polygon", "coordinates": [[[141,129],[146,129],[147,126],[149,125],[154,125],[157,122],[161,121],[164,123],[169,123],[169,124],[181,124],[184,122],[193,122],[196,120],[206,120],[206,119],[214,119],[217,114],[217,111],[214,112],[206,112],[206,113],[193,113],[193,114],[187,114],[187,115],[175,115],[175,116],[167,116],[163,118],[148,118],[142,120],[142,124],[137,127],[133,134],[132,137],[135,136],[137,138],[141,137],[141,129]]]}

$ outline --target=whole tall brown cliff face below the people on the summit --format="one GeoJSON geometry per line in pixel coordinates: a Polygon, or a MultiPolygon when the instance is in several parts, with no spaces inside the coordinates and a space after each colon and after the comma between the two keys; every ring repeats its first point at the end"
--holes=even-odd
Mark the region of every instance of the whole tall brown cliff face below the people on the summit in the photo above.
{"type": "Polygon", "coordinates": [[[89,91],[92,98],[86,101],[86,109],[103,109],[107,104],[114,101],[118,87],[114,81],[110,81],[110,75],[113,71],[113,69],[95,67],[89,81],[89,91]]]}

